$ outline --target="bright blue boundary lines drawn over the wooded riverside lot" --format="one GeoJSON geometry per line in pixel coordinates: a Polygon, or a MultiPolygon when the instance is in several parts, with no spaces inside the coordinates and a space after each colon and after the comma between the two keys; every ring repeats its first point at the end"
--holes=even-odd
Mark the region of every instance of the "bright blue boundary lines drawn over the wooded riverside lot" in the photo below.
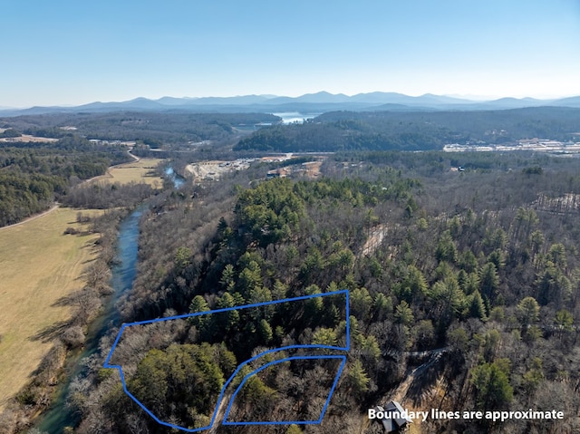
{"type": "MultiPolygon", "coordinates": [[[[295,349],[304,349],[304,348],[316,348],[316,349],[328,349],[328,350],[339,350],[339,351],[350,351],[351,349],[351,320],[350,320],[350,298],[349,298],[349,291],[348,289],[343,289],[341,291],[333,291],[331,293],[321,293],[321,294],[312,294],[312,295],[302,295],[299,297],[293,297],[293,298],[285,298],[282,300],[274,300],[271,302],[264,302],[264,303],[256,303],[256,304],[243,304],[241,306],[234,306],[234,307],[226,307],[223,309],[216,309],[213,311],[204,311],[204,312],[198,312],[198,313],[185,313],[182,315],[176,315],[176,316],[168,316],[167,318],[156,318],[154,320],[146,320],[146,321],[138,321],[136,323],[125,323],[121,325],[121,329],[119,330],[119,333],[117,333],[117,338],[115,339],[115,342],[113,342],[112,347],[111,347],[111,351],[109,352],[109,355],[107,356],[107,358],[105,359],[105,362],[103,363],[103,368],[108,368],[108,369],[116,369],[119,371],[119,374],[121,376],[121,383],[123,385],[123,391],[125,391],[125,393],[131,398],[131,400],[134,400],[141,409],[145,410],[145,412],[147,414],[150,415],[151,418],[153,418],[153,420],[155,420],[156,422],[158,422],[160,425],[164,425],[166,427],[169,428],[175,428],[175,429],[181,429],[187,432],[197,432],[197,431],[201,431],[204,429],[210,429],[214,426],[216,417],[218,416],[218,404],[221,402],[221,400],[224,397],[224,394],[226,393],[226,389],[227,386],[229,385],[229,383],[231,381],[234,380],[234,377],[239,373],[239,371],[245,366],[247,365],[247,363],[250,362],[254,362],[256,359],[259,359],[262,356],[265,356],[268,353],[272,353],[272,352],[280,352],[280,351],[285,351],[285,350],[295,350],[295,349]],[[216,402],[216,406],[214,409],[214,413],[213,416],[211,418],[211,421],[209,422],[209,425],[207,427],[201,427],[201,428],[196,428],[196,429],[188,429],[188,428],[184,428],[184,427],[179,427],[178,425],[174,425],[172,423],[168,423],[168,422],[164,422],[162,420],[160,420],[157,416],[155,416],[147,407],[145,407],[140,400],[138,400],[137,398],[135,398],[130,391],[127,390],[127,384],[125,382],[125,377],[123,375],[122,372],[122,368],[121,365],[111,365],[109,362],[111,360],[112,357],[112,353],[115,351],[115,348],[117,347],[117,344],[119,343],[119,341],[121,340],[121,334],[123,333],[123,330],[125,330],[126,327],[131,327],[131,325],[143,325],[143,324],[151,324],[151,323],[160,323],[162,321],[170,321],[170,320],[179,320],[179,319],[185,319],[185,318],[193,318],[195,316],[201,316],[201,315],[208,315],[208,314],[213,314],[213,313],[223,313],[223,312],[229,312],[229,311],[237,311],[237,310],[241,310],[241,309],[248,309],[250,307],[260,307],[260,306],[268,306],[270,304],[282,304],[282,303],[289,303],[289,302],[295,302],[295,301],[299,301],[299,300],[308,300],[310,298],[316,298],[316,297],[327,297],[327,296],[332,296],[332,295],[339,295],[339,294],[344,294],[346,297],[346,330],[345,330],[345,337],[346,337],[346,345],[343,347],[339,347],[339,346],[333,346],[333,345],[314,345],[314,344],[304,344],[304,345],[289,345],[289,346],[285,346],[285,347],[280,347],[280,348],[275,348],[273,350],[267,350],[266,352],[260,352],[259,354],[256,354],[256,356],[252,357],[251,359],[248,359],[245,362],[241,362],[238,366],[236,371],[234,371],[234,373],[229,377],[229,379],[226,381],[226,383],[224,384],[224,386],[222,387],[221,393],[219,394],[218,397],[218,402],[216,402]]],[[[307,357],[307,356],[304,356],[307,357]]],[[[325,356],[316,356],[314,358],[329,358],[331,356],[325,357],[325,356]]],[[[344,357],[344,362],[346,362],[346,356],[334,356],[335,357],[344,357]]],[[[283,362],[283,361],[280,361],[283,362]]],[[[326,402],[326,405],[324,405],[324,410],[323,410],[323,414],[321,415],[321,419],[318,421],[306,421],[306,422],[281,422],[283,424],[287,424],[287,423],[321,423],[322,421],[322,417],[324,416],[324,411],[326,410],[326,406],[328,405],[328,402],[330,401],[331,397],[333,396],[333,391],[334,391],[334,387],[336,386],[336,383],[338,381],[338,378],[340,376],[340,373],[342,372],[342,368],[339,371],[339,375],[337,375],[336,379],[334,380],[333,383],[333,388],[328,396],[328,400],[326,402]]],[[[231,405],[231,400],[230,400],[230,405],[231,405]]],[[[228,407],[229,408],[229,407],[228,407]]],[[[238,425],[238,424],[248,424],[248,423],[260,423],[260,424],[275,424],[276,422],[242,422],[242,423],[228,423],[229,425],[238,425]]]]}

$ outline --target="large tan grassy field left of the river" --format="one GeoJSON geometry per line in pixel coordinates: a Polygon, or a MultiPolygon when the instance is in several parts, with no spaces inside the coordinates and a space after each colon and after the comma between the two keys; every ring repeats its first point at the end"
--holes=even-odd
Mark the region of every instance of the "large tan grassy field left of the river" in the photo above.
{"type": "Polygon", "coordinates": [[[0,410],[51,347],[34,335],[70,316],[69,307],[54,304],[82,288],[82,271],[96,256],[96,236],[63,235],[79,228],[76,214],[56,208],[0,230],[0,410]]]}

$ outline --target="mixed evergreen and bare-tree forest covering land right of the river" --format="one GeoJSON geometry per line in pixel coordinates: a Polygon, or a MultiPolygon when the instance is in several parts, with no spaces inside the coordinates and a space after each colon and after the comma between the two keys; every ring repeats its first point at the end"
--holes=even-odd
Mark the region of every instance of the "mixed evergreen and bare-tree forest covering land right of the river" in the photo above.
{"type": "MultiPolygon", "coordinates": [[[[178,426],[207,426],[215,401],[200,396],[215,398],[239,363],[304,342],[340,347],[348,322],[351,348],[321,425],[216,432],[378,433],[382,426],[369,423],[366,410],[395,396],[420,410],[565,415],[426,420],[421,432],[577,431],[576,159],[345,153],[324,162],[322,178],[258,180],[267,169],[148,199],[139,274],[121,302],[121,321],[340,289],[349,291],[350,316],[340,300],[321,298],[294,310],[277,304],[137,327],[114,357],[148,409],[178,426]]],[[[117,332],[85,362],[87,376],[73,380],[74,432],[169,432],[122,391],[115,371],[102,368],[117,332]]],[[[239,389],[229,414],[312,419],[337,369],[325,359],[275,363],[239,389]]],[[[34,390],[26,399],[34,405],[34,390]]]]}

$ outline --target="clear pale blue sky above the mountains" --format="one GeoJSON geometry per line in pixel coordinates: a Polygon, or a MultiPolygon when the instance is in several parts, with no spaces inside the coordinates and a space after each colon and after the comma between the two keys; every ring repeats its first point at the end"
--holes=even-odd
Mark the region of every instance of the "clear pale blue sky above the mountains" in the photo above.
{"type": "Polygon", "coordinates": [[[0,0],[0,106],[580,95],[580,0],[0,0]]]}

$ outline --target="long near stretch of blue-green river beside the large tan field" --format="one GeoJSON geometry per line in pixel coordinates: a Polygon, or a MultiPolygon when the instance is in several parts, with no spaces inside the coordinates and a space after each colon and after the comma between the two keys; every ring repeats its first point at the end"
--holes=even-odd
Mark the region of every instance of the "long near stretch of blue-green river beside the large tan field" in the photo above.
{"type": "Polygon", "coordinates": [[[121,295],[131,289],[137,274],[139,220],[144,208],[145,205],[141,205],[121,221],[117,235],[115,265],[111,269],[113,294],[105,304],[103,313],[91,323],[84,350],[78,355],[72,355],[66,362],[66,380],[59,388],[50,410],[44,413],[38,424],[37,428],[41,431],[49,434],[62,434],[65,427],[74,426],[78,422],[78,415],[73,414],[66,405],[69,386],[73,378],[83,375],[85,371],[83,359],[97,352],[102,336],[119,321],[119,311],[116,304],[121,295]]]}

